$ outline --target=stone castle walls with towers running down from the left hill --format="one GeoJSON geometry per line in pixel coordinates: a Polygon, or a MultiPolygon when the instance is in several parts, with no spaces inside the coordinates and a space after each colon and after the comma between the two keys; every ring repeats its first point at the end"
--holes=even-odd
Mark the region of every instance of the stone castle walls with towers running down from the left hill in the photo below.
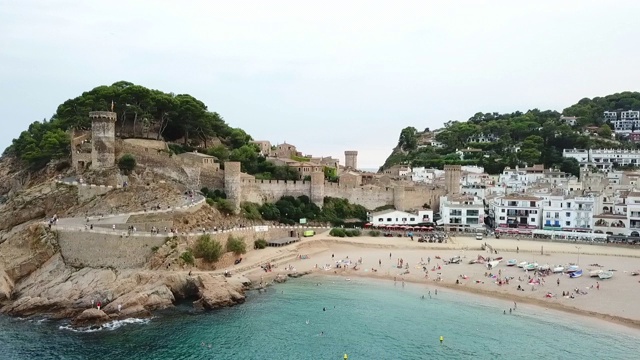
{"type": "Polygon", "coordinates": [[[308,196],[318,206],[322,206],[325,197],[335,197],[370,210],[382,206],[393,206],[404,211],[418,210],[424,206],[437,209],[440,197],[447,194],[447,189],[455,191],[457,187],[453,184],[456,184],[456,180],[459,182],[460,178],[459,166],[445,169],[447,175],[444,186],[418,185],[387,175],[360,172],[356,170],[358,152],[349,150],[345,151],[345,166],[335,165],[340,173],[338,183],[325,180],[322,166],[307,166],[309,172],[306,180],[259,180],[243,173],[239,162],[220,164],[215,157],[197,152],[172,155],[163,141],[117,139],[116,113],[96,111],[89,116],[92,120],[91,131],[74,133],[71,139],[72,163],[79,174],[88,168],[113,168],[119,156],[130,153],[144,168],[145,176],[159,174],[186,183],[185,179],[193,177],[195,173],[198,179],[190,179],[188,186],[222,190],[237,210],[242,202],[263,204],[276,202],[283,196],[302,195],[308,196]],[[384,181],[371,181],[375,177],[382,177],[384,181]]]}

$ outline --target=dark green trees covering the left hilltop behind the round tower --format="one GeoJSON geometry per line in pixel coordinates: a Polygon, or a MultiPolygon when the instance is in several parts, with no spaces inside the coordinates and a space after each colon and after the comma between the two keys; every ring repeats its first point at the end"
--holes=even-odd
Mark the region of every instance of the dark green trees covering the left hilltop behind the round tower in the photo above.
{"type": "Polygon", "coordinates": [[[58,106],[50,120],[29,125],[5,154],[14,155],[32,168],[41,168],[53,159],[70,154],[71,129],[91,128],[89,112],[117,113],[116,131],[122,137],[164,139],[174,153],[201,150],[220,161],[240,161],[242,170],[259,179],[297,180],[295,169],[275,166],[245,131],[229,126],[220,114],[210,111],[188,94],[165,93],[127,81],[99,86],[58,106]],[[154,135],[155,134],[155,135],[154,135]]]}

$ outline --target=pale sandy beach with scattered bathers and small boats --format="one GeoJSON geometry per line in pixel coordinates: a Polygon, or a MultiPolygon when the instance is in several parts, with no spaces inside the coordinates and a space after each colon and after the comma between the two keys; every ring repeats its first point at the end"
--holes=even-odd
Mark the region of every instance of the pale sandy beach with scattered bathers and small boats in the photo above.
{"type": "MultiPolygon", "coordinates": [[[[275,262],[277,267],[272,272],[265,273],[256,266],[245,274],[257,282],[261,279],[268,281],[277,275],[311,271],[308,276],[360,276],[399,283],[424,283],[430,287],[597,317],[640,329],[640,307],[635,305],[640,296],[640,276],[631,275],[631,272],[640,270],[640,249],[511,239],[485,238],[478,241],[472,237],[452,237],[446,244],[434,244],[418,243],[404,237],[334,238],[319,234],[278,251],[302,255],[302,259],[284,258],[275,262]],[[484,243],[497,250],[498,254],[482,250],[484,243]],[[479,255],[503,259],[489,270],[486,264],[469,263],[479,255]],[[446,260],[455,256],[461,258],[459,264],[446,264],[446,260]],[[400,259],[402,268],[398,268],[400,259]],[[551,267],[578,264],[584,275],[579,278],[569,278],[567,274],[536,276],[533,271],[507,266],[509,259],[517,259],[518,263],[549,264],[551,267]],[[336,262],[343,260],[351,261],[351,265],[337,268],[336,262]],[[424,265],[420,265],[421,262],[424,265]],[[356,263],[358,266],[354,269],[356,263]],[[424,271],[425,267],[427,271],[424,271]],[[606,280],[590,277],[589,271],[595,269],[612,270],[614,275],[606,280]],[[507,278],[510,279],[509,284],[498,283],[498,279],[507,278]],[[539,285],[529,283],[530,279],[538,278],[542,279],[539,285]],[[518,290],[518,286],[523,290],[518,290]],[[573,296],[562,296],[563,292],[573,296]]],[[[253,257],[252,253],[247,257],[253,257]]]]}

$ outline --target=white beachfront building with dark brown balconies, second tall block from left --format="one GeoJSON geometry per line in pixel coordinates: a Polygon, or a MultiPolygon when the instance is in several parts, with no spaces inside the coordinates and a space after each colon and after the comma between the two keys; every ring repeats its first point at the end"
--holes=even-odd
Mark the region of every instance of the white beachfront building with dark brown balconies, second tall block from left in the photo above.
{"type": "Polygon", "coordinates": [[[542,198],[531,195],[505,195],[492,201],[489,216],[496,228],[516,228],[523,232],[540,228],[542,198]]]}

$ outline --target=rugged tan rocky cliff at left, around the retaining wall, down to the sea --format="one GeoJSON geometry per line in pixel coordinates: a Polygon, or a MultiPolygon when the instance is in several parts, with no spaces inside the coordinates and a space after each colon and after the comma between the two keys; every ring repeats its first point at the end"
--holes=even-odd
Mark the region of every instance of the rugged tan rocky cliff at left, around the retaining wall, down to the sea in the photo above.
{"type": "MultiPolygon", "coordinates": [[[[78,187],[57,183],[69,175],[64,171],[50,167],[25,175],[8,164],[6,159],[0,159],[1,313],[70,318],[75,325],[85,326],[114,318],[148,316],[179,300],[193,301],[195,307],[202,309],[244,301],[247,283],[242,278],[187,268],[184,263],[177,263],[176,254],[171,261],[178,266],[171,269],[150,269],[146,264],[132,269],[105,264],[72,266],[60,251],[59,233],[45,223],[54,214],[78,216],[82,221],[85,216],[166,207],[183,201],[180,184],[137,182],[133,174],[127,189],[80,196],[78,187]],[[12,182],[16,176],[22,180],[12,182]],[[101,309],[96,308],[98,302],[101,309]]],[[[211,219],[203,212],[214,210],[207,209],[197,212],[196,221],[189,222],[188,214],[159,216],[156,220],[166,223],[176,217],[183,227],[190,223],[195,226],[200,218],[211,219]]],[[[160,256],[153,260],[164,263],[160,256]]]]}

